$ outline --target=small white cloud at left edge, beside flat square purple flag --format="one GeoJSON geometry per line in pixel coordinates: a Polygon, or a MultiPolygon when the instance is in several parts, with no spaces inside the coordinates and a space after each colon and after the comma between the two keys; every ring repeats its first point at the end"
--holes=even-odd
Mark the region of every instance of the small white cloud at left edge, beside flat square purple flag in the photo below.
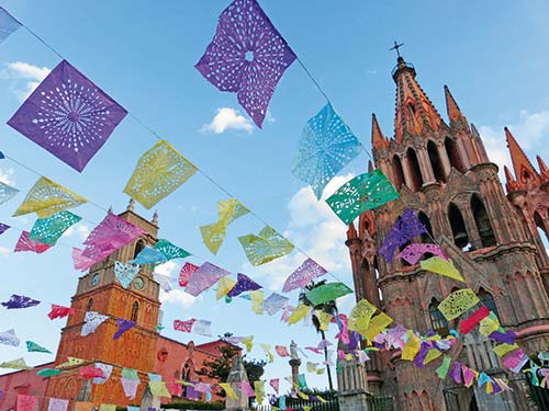
{"type": "Polygon", "coordinates": [[[14,80],[10,91],[20,101],[24,101],[38,84],[49,75],[47,67],[38,67],[24,61],[5,62],[0,70],[0,79],[14,80]]]}

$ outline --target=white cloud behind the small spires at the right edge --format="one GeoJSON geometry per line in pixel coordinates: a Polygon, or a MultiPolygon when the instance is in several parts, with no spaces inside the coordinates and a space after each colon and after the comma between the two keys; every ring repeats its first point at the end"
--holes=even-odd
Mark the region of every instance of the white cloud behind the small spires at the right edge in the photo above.
{"type": "MultiPolygon", "coordinates": [[[[505,142],[503,126],[481,126],[479,133],[484,141],[490,160],[500,165],[500,174],[504,179],[503,164],[507,164],[512,170],[513,167],[505,142]]],[[[525,151],[533,150],[541,157],[545,155],[546,158],[549,156],[546,145],[549,135],[549,110],[539,113],[522,110],[518,121],[506,124],[506,126],[525,151]]],[[[536,164],[534,157],[530,158],[530,161],[536,164]]]]}

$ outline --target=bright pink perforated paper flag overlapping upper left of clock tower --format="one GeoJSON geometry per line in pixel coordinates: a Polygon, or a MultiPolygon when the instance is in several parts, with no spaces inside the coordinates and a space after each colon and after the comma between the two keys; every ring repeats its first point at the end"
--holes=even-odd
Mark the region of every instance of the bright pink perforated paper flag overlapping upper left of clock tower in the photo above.
{"type": "Polygon", "coordinates": [[[132,222],[109,213],[105,218],[90,232],[83,241],[88,246],[83,251],[83,256],[89,256],[92,250],[90,247],[117,250],[128,243],[137,240],[144,230],[132,222]]]}

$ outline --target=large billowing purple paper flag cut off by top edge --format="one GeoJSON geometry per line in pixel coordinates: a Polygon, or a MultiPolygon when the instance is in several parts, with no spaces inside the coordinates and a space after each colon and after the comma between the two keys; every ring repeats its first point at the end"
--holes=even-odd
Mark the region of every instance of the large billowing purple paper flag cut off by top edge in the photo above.
{"type": "Polygon", "coordinates": [[[236,93],[261,128],[274,88],[295,58],[256,0],[235,0],[195,68],[219,90],[236,93]]]}

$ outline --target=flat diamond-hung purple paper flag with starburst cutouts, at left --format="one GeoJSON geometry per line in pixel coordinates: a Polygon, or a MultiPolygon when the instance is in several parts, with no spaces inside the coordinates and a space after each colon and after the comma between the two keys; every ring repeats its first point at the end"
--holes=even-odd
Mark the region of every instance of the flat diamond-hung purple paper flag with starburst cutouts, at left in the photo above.
{"type": "Polygon", "coordinates": [[[8,124],[82,171],[125,115],[122,106],[63,60],[8,124]]]}

